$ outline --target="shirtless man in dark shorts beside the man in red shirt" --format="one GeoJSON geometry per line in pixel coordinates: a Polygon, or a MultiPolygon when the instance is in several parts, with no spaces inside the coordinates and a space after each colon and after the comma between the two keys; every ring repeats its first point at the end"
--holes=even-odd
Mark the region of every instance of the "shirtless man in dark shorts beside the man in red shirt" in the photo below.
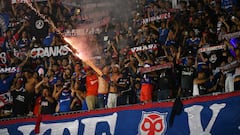
{"type": "Polygon", "coordinates": [[[98,108],[105,108],[107,105],[108,82],[110,81],[109,67],[104,66],[102,72],[104,77],[98,77],[98,108]]]}

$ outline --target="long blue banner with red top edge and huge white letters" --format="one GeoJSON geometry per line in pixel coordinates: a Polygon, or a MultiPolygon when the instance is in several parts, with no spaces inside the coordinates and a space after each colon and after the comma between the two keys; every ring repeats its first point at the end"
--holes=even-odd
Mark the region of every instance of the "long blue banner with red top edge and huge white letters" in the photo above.
{"type": "MultiPolygon", "coordinates": [[[[183,100],[168,121],[173,102],[42,116],[40,135],[239,135],[240,92],[183,100]]],[[[0,121],[1,135],[34,134],[37,118],[0,121]]]]}

